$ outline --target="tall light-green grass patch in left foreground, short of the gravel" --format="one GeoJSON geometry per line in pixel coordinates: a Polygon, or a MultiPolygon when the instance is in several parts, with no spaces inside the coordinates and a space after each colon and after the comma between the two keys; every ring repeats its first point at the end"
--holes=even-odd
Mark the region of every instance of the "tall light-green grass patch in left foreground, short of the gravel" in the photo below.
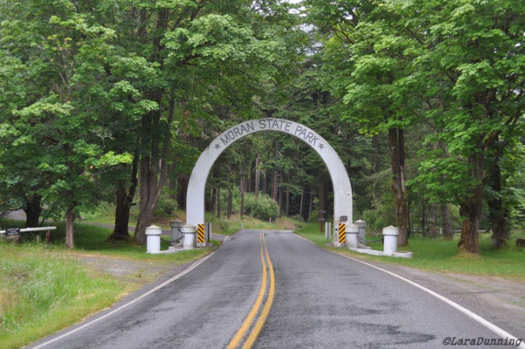
{"type": "Polygon", "coordinates": [[[108,307],[125,285],[60,248],[0,242],[0,347],[16,348],[108,307]]]}

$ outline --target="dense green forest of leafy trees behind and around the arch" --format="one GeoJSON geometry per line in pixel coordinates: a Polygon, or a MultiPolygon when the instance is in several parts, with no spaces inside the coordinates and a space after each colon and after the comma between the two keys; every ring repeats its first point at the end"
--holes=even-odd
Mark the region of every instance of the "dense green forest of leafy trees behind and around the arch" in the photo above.
{"type": "MultiPolygon", "coordinates": [[[[0,210],[27,225],[115,207],[135,240],[185,208],[200,152],[241,121],[316,130],[339,153],[354,220],[479,253],[523,229],[525,6],[513,1],[0,0],[0,210]]],[[[330,215],[322,160],[277,132],[209,174],[219,216],[330,215]]]]}

